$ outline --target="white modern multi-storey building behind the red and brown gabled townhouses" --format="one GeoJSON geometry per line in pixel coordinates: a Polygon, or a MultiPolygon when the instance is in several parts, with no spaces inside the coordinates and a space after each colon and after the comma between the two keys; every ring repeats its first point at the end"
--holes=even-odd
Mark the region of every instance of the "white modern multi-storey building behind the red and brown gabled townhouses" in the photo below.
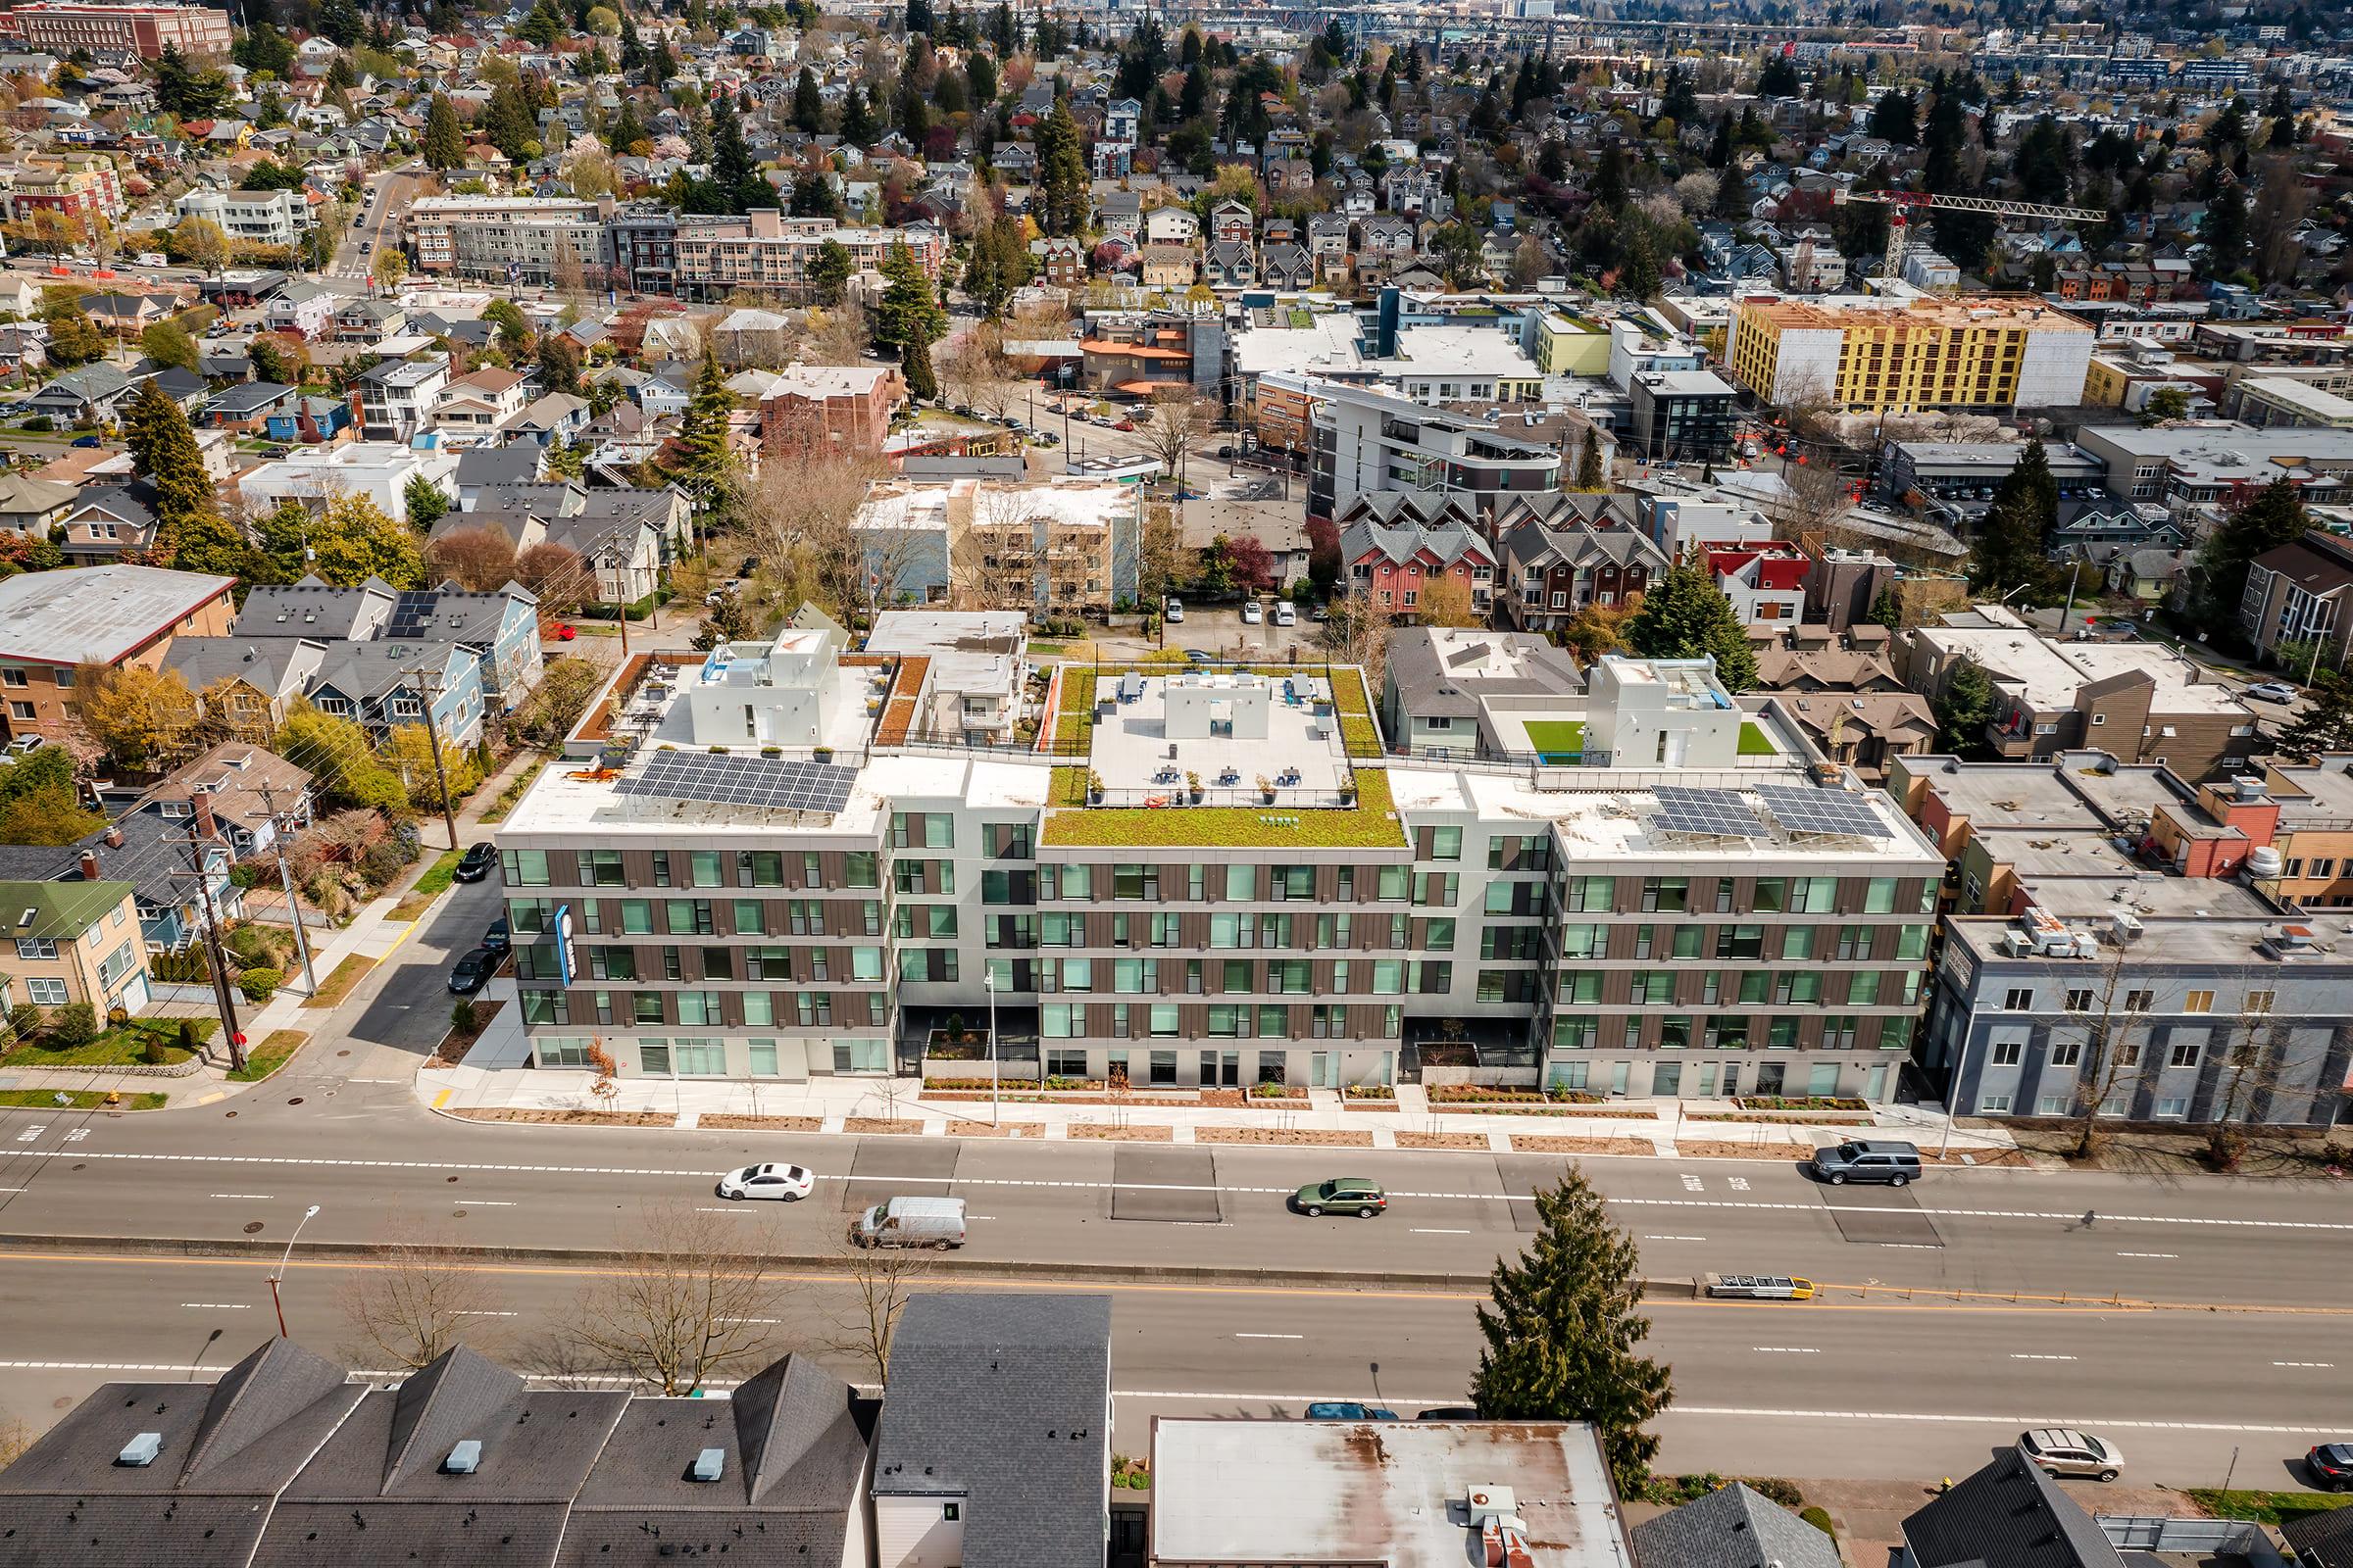
{"type": "Polygon", "coordinates": [[[1339,517],[1365,491],[1384,489],[1452,491],[1485,515],[1515,494],[1560,489],[1560,451],[1504,435],[1494,421],[1339,381],[1313,390],[1308,517],[1339,517]]]}

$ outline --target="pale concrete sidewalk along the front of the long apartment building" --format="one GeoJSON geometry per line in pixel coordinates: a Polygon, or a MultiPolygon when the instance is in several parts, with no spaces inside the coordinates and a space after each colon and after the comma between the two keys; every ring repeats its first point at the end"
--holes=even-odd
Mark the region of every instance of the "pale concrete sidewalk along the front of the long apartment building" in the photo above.
{"type": "MultiPolygon", "coordinates": [[[[494,980],[485,1001],[511,1001],[513,980],[494,980]]],[[[532,1067],[529,1041],[515,1009],[504,1006],[482,1032],[466,1060],[454,1067],[426,1067],[416,1074],[416,1098],[442,1114],[494,1112],[489,1119],[558,1119],[567,1112],[668,1117],[675,1128],[701,1126],[711,1117],[760,1117],[809,1133],[861,1133],[873,1124],[911,1124],[925,1138],[995,1138],[998,1124],[1009,1135],[1047,1143],[1073,1138],[1141,1138],[1155,1143],[1235,1143],[1228,1133],[1249,1131],[1249,1140],[1346,1143],[1374,1150],[1492,1150],[1511,1152],[1513,1135],[1577,1140],[1560,1152],[1633,1154],[1675,1159],[1722,1154],[1748,1159],[1798,1157],[1826,1143],[1857,1135],[1887,1135],[1918,1143],[1929,1154],[1948,1150],[1953,1164],[2017,1161],[2007,1133],[1951,1128],[1934,1107],[1887,1105],[1868,1112],[1868,1124],[1809,1124],[1805,1117],[1769,1121],[1720,1121],[1741,1112],[1732,1100],[1617,1100],[1555,1110],[1447,1110],[1431,1105],[1421,1084],[1398,1084],[1395,1100],[1346,1103],[1329,1088],[1306,1091],[1306,1105],[1169,1105],[1153,1103],[1151,1091],[1136,1091],[1125,1103],[1092,1095],[1092,1103],[1038,1100],[1007,1084],[1005,1098],[991,1110],[988,1095],[925,1095],[915,1079],[882,1077],[812,1077],[807,1081],[744,1079],[616,1079],[609,1095],[593,1093],[595,1074],[572,1067],[532,1067]],[[798,1124],[798,1126],[795,1126],[798,1124]],[[1165,1128],[1165,1131],[1155,1131],[1165,1128]],[[1682,1147],[1678,1147],[1678,1143],[1682,1147]]],[[[1861,1117],[1864,1112],[1854,1112],[1861,1117]]],[[[654,1124],[659,1126],[659,1121],[654,1124]]]]}

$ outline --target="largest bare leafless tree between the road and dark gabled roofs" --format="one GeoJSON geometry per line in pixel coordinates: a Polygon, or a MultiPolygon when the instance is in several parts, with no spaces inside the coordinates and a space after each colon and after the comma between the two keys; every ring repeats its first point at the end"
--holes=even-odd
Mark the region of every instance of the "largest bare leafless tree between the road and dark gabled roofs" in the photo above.
{"type": "Polygon", "coordinates": [[[769,1356],[784,1293],[762,1232],[654,1204],[584,1291],[569,1338],[612,1373],[692,1394],[769,1356]]]}

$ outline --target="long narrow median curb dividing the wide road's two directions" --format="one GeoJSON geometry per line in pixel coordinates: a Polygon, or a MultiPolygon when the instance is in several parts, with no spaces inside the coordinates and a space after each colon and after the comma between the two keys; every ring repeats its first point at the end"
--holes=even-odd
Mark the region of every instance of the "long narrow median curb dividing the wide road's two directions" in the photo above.
{"type": "MultiPolygon", "coordinates": [[[[301,1241],[294,1253],[308,1262],[351,1262],[381,1258],[393,1248],[372,1241],[301,1241]]],[[[435,1246],[431,1248],[442,1255],[468,1258],[478,1262],[499,1265],[598,1265],[598,1262],[621,1262],[631,1253],[619,1248],[588,1248],[588,1246],[435,1246]]],[[[193,1239],[193,1237],[35,1237],[35,1234],[0,1234],[0,1255],[9,1253],[78,1253],[94,1258],[282,1258],[282,1241],[264,1241],[256,1237],[219,1237],[219,1239],[193,1239]]],[[[720,1262],[762,1262],[776,1269],[795,1272],[826,1272],[842,1274],[845,1279],[854,1274],[856,1258],[842,1258],[838,1253],[722,1253],[720,1262]]],[[[1167,1265],[1118,1265],[1118,1262],[991,1262],[981,1258],[962,1258],[958,1253],[946,1253],[939,1258],[925,1258],[925,1265],[944,1274],[965,1274],[972,1279],[998,1279],[998,1281],[1021,1281],[1021,1279],[1056,1279],[1056,1281],[1129,1281],[1151,1279],[1165,1284],[1193,1284],[1193,1286],[1261,1286],[1261,1288],[1325,1288],[1325,1291],[1419,1291],[1428,1295],[1461,1295],[1473,1293],[1487,1295],[1487,1274],[1346,1274],[1339,1269],[1235,1269],[1235,1267],[1167,1267],[1167,1265]]],[[[1645,1293],[1661,1295],[1692,1295],[1689,1279],[1654,1279],[1645,1281],[1645,1293]]]]}

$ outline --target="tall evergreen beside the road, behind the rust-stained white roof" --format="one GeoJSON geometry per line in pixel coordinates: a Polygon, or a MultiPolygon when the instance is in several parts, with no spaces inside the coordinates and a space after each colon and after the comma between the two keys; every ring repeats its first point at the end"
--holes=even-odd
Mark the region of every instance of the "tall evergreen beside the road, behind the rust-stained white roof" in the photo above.
{"type": "Polygon", "coordinates": [[[1638,1497],[1659,1453],[1642,1425],[1675,1389],[1666,1366],[1635,1349],[1649,1338],[1640,1258],[1581,1171],[1537,1194],[1537,1234],[1518,1260],[1494,1265],[1489,1293],[1471,1378],[1478,1413],[1593,1422],[1619,1493],[1638,1497]]]}

